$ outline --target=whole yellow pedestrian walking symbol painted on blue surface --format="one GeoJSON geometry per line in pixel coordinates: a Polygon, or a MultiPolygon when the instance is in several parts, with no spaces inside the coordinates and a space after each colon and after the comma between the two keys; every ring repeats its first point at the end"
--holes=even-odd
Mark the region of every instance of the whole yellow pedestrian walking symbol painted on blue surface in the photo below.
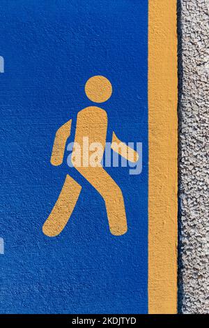
{"type": "MultiPolygon", "coordinates": [[[[101,75],[91,77],[85,86],[86,96],[94,103],[104,103],[112,94],[112,87],[109,80],[101,75]]],[[[65,152],[66,142],[70,137],[72,119],[66,122],[56,132],[54,145],[52,149],[51,163],[52,165],[61,165],[65,152]]],[[[86,152],[89,149],[84,149],[83,138],[88,137],[88,143],[101,144],[105,149],[107,137],[107,112],[100,107],[86,107],[77,114],[77,124],[75,131],[75,143],[81,145],[81,160],[85,160],[86,152]]],[[[137,151],[128,147],[123,143],[125,153],[121,152],[121,140],[113,133],[111,140],[111,149],[118,152],[127,161],[137,162],[137,151]]],[[[90,155],[90,154],[86,154],[90,155]]],[[[92,155],[92,154],[91,154],[92,155]]],[[[100,193],[104,199],[107,210],[107,218],[111,234],[119,236],[127,232],[127,219],[125,214],[125,205],[121,188],[116,184],[114,179],[110,177],[104,167],[98,165],[77,165],[73,163],[75,169],[100,193]]],[[[49,217],[45,221],[42,231],[49,237],[55,237],[61,233],[72,214],[72,211],[77,203],[82,186],[75,179],[72,179],[67,174],[61,193],[52,209],[49,217]]]]}

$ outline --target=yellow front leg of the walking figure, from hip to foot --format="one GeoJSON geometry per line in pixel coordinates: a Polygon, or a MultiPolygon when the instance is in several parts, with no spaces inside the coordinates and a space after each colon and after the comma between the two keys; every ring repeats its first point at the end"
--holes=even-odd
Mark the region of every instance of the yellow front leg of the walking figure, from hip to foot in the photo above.
{"type": "Polygon", "coordinates": [[[79,167],[79,172],[104,199],[111,234],[120,236],[127,232],[125,205],[121,188],[103,167],[79,167]]]}

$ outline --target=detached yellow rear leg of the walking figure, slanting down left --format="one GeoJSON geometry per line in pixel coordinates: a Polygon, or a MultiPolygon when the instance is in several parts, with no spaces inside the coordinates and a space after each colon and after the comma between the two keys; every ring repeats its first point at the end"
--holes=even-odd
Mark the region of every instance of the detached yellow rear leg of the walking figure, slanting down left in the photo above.
{"type": "Polygon", "coordinates": [[[67,175],[59,198],[47,221],[42,226],[44,234],[49,237],[55,237],[61,233],[68,223],[81,190],[82,187],[72,177],[67,175]]]}

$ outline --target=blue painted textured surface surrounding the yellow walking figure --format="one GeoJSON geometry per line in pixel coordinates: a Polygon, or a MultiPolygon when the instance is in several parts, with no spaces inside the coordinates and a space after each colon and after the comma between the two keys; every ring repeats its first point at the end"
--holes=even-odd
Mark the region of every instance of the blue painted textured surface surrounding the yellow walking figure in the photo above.
{"type": "MultiPolygon", "coordinates": [[[[1,313],[148,311],[148,1],[1,0],[1,313]],[[114,237],[100,195],[65,161],[54,135],[92,105],[84,84],[104,75],[109,135],[143,142],[143,170],[108,168],[125,198],[128,232],[114,237]],[[56,238],[42,224],[69,172],[82,184],[56,238]]],[[[69,140],[72,141],[72,140],[69,140]]],[[[110,141],[110,140],[107,140],[110,141]]]]}

